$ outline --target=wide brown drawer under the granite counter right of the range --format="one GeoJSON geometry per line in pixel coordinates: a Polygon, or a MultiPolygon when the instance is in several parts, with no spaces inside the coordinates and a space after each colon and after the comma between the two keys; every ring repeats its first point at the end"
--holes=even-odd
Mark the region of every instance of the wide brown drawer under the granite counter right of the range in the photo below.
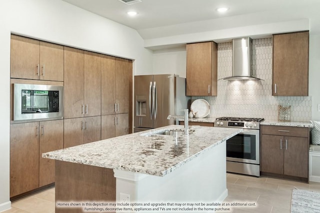
{"type": "Polygon", "coordinates": [[[261,133],[267,135],[283,135],[307,138],[309,135],[309,128],[261,125],[261,133]]]}

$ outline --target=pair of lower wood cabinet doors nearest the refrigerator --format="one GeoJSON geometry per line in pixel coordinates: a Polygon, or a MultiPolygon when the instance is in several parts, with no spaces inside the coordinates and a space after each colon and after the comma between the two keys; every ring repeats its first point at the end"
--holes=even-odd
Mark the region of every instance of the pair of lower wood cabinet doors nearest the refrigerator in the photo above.
{"type": "Polygon", "coordinates": [[[101,116],[101,140],[129,134],[128,113],[101,116]]]}

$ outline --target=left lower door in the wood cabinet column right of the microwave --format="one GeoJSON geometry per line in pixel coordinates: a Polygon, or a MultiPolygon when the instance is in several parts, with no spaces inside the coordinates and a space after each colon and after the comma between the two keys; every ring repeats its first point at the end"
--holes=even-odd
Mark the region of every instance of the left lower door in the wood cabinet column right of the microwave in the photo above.
{"type": "Polygon", "coordinates": [[[83,118],[64,119],[63,148],[83,144],[83,118]]]}

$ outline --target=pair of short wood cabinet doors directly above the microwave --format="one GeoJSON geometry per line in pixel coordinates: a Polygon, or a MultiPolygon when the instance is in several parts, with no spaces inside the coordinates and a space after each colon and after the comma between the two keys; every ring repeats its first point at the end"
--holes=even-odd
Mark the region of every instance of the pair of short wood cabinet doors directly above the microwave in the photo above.
{"type": "Polygon", "coordinates": [[[63,46],[11,34],[10,77],[63,81],[63,46]]]}

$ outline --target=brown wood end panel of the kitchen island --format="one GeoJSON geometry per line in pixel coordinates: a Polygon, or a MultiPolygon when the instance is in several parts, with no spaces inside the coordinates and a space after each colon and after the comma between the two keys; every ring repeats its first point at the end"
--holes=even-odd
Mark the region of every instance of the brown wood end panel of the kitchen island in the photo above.
{"type": "Polygon", "coordinates": [[[115,192],[112,169],[55,161],[55,213],[78,213],[80,210],[59,208],[58,202],[115,202],[115,192]]]}

